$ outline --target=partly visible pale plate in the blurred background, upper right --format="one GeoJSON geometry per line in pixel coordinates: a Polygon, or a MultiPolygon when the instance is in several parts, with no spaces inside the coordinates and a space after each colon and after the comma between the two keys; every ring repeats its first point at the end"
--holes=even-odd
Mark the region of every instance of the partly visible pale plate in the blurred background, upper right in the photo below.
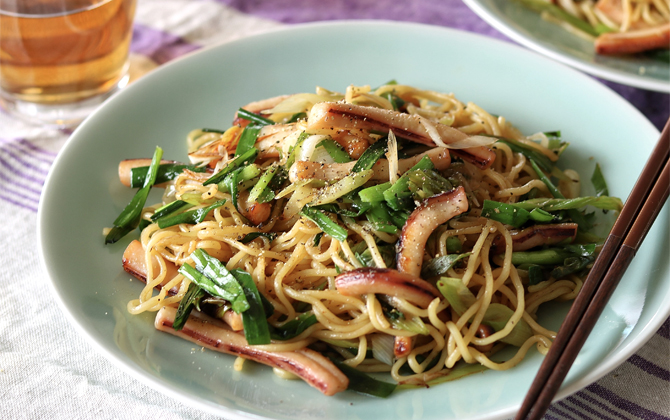
{"type": "Polygon", "coordinates": [[[514,41],[576,69],[624,85],[670,92],[670,63],[639,56],[605,56],[593,42],[547,22],[516,0],[463,0],[514,41]]]}

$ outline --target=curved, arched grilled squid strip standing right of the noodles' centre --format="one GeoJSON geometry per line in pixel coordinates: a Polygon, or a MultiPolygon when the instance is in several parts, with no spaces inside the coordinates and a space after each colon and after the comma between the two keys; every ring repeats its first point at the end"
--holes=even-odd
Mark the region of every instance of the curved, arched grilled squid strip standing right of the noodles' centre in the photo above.
{"type": "Polygon", "coordinates": [[[467,210],[468,199],[463,187],[424,200],[402,228],[396,258],[398,270],[418,277],[428,237],[438,226],[467,210]]]}

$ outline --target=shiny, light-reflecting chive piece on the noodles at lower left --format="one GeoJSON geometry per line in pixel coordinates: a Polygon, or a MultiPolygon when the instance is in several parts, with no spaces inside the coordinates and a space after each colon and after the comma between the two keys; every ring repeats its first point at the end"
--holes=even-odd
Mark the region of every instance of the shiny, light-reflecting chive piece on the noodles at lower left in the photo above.
{"type": "MultiPolygon", "coordinates": [[[[199,284],[200,287],[207,290],[214,296],[219,296],[229,301],[233,311],[237,313],[241,313],[249,309],[249,302],[247,302],[245,294],[243,293],[242,287],[237,281],[237,278],[230,274],[221,261],[210,256],[206,251],[200,248],[191,253],[191,259],[195,263],[197,271],[202,273],[203,276],[209,278],[210,282],[216,286],[215,288],[212,288],[214,293],[212,290],[208,290],[206,287],[199,284]]],[[[183,267],[190,266],[188,264],[184,264],[181,268],[183,267]]]]}

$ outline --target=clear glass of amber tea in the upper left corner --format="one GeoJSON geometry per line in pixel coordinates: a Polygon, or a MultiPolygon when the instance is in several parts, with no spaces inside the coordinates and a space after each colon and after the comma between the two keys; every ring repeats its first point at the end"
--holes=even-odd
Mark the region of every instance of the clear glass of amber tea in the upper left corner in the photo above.
{"type": "Polygon", "coordinates": [[[0,0],[0,106],[74,126],[128,83],[136,0],[0,0]]]}

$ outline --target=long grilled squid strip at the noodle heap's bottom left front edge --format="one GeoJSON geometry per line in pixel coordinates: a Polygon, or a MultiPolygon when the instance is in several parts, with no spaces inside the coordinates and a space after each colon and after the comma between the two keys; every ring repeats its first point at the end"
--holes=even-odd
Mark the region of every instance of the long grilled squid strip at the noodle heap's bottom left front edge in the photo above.
{"type": "Polygon", "coordinates": [[[156,314],[156,320],[154,321],[156,329],[211,350],[283,369],[299,376],[309,385],[328,396],[344,391],[349,385],[349,379],[333,362],[314,350],[307,348],[286,352],[262,350],[259,347],[247,344],[242,334],[230,331],[217,320],[197,311],[191,313],[184,328],[175,331],[172,324],[176,313],[175,308],[163,307],[156,314]]]}

